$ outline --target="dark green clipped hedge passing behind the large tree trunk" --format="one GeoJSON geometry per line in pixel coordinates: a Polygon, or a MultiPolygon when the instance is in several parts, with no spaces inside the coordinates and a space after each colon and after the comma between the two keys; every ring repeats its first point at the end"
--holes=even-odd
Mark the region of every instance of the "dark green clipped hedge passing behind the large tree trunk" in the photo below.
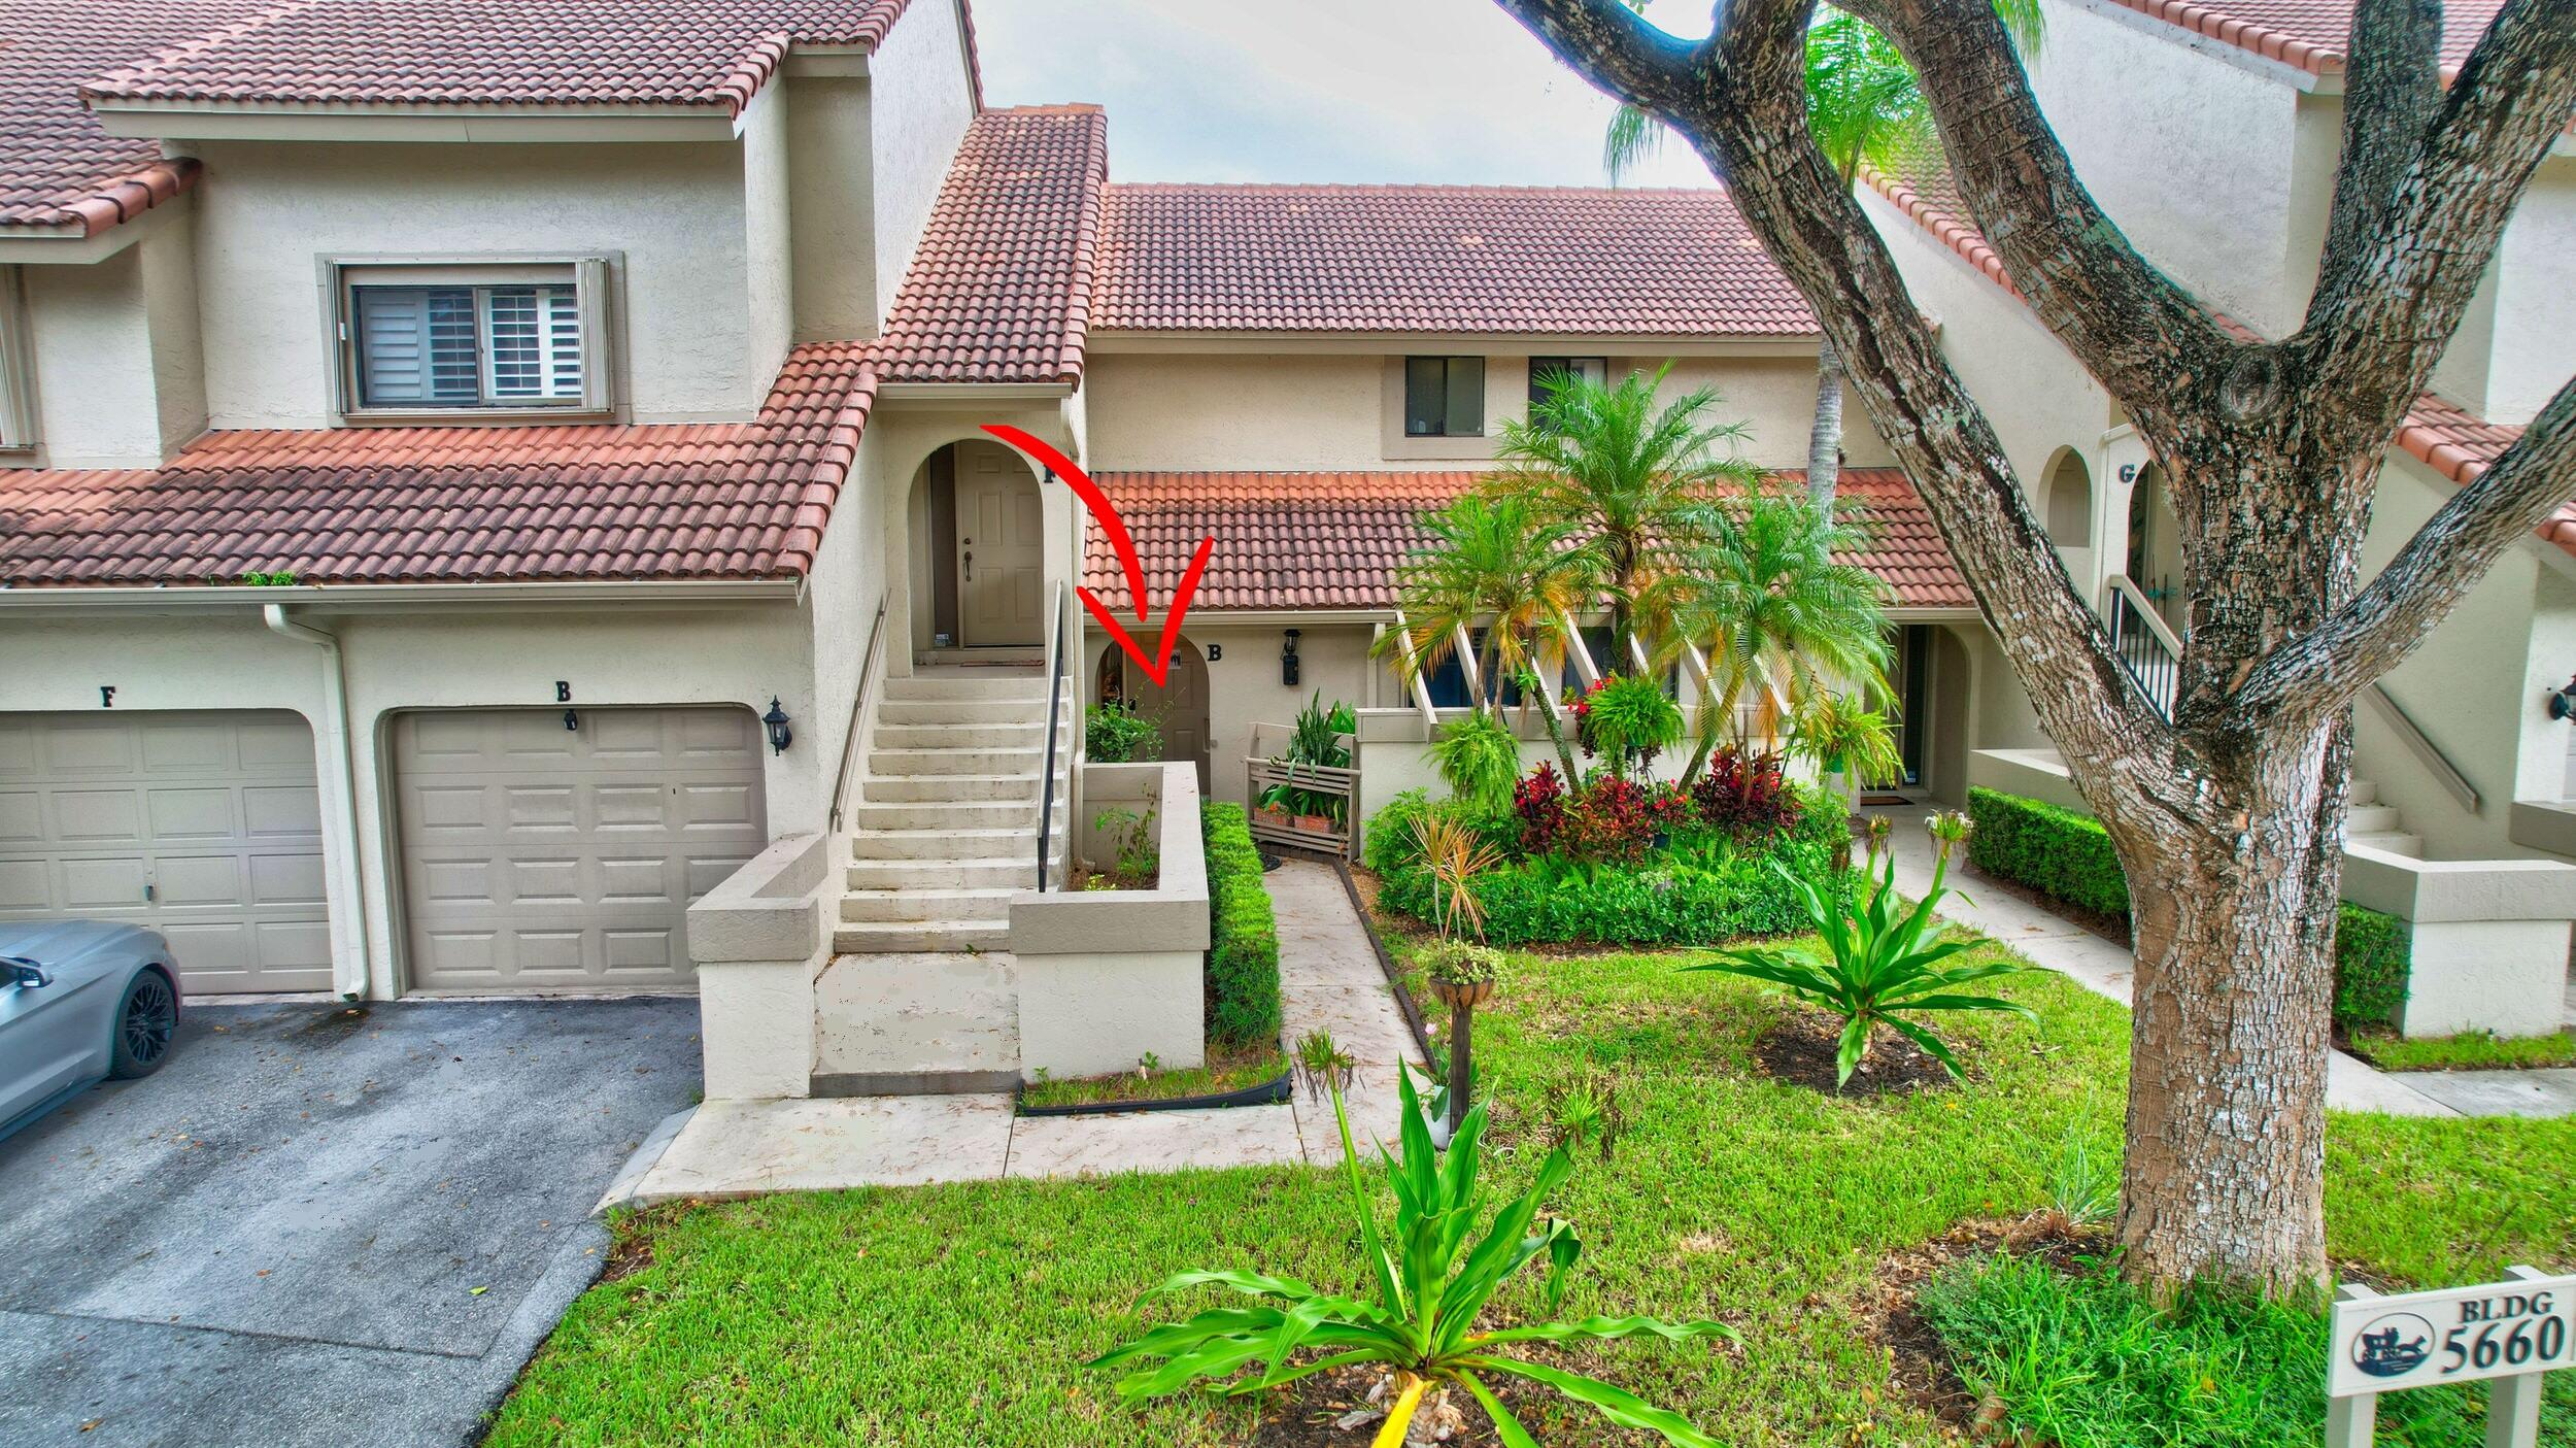
{"type": "MultiPolygon", "coordinates": [[[[2128,876],[2110,832],[2092,814],[1996,788],[1968,791],[1968,861],[1994,879],[2097,910],[2128,915],[2128,876]]],[[[2344,904],[2334,917],[2334,1020],[2391,1025],[2406,1007],[2406,922],[2344,904]]]]}

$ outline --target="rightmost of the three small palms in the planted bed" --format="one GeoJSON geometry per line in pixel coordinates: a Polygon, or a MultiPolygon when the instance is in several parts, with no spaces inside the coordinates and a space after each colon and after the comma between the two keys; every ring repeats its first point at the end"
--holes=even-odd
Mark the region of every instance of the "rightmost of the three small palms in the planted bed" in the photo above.
{"type": "Polygon", "coordinates": [[[1765,732],[1777,729],[1775,701],[1801,709],[1852,685],[1893,698],[1886,582],[1834,559],[1860,541],[1857,526],[1757,487],[1723,508],[1713,536],[1654,590],[1651,608],[1669,621],[1656,654],[1672,657],[1685,642],[1708,649],[1713,698],[1700,706],[1685,786],[1700,778],[1747,691],[1759,701],[1765,732]]]}

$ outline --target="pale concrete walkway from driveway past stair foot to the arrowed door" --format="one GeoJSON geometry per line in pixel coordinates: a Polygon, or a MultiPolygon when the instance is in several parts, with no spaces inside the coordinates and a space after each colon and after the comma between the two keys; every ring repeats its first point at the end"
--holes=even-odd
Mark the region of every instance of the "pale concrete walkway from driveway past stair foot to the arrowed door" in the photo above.
{"type": "MultiPolygon", "coordinates": [[[[1309,1031],[1332,1031],[1358,1062],[1347,1092],[1355,1139],[1394,1141],[1396,1074],[1419,1051],[1368,930],[1329,866],[1291,861],[1267,884],[1280,928],[1280,1036],[1293,1049],[1309,1031]]],[[[1340,1139],[1332,1103],[1303,1092],[1293,1105],[1025,1118],[1007,1092],[711,1100],[603,1206],[1306,1162],[1340,1162],[1340,1139]]]]}

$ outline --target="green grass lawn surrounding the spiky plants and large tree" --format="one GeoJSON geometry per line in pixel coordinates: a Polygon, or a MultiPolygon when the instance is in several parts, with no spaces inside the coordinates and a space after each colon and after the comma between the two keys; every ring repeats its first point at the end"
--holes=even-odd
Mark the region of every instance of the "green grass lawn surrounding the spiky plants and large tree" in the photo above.
{"type": "MultiPolygon", "coordinates": [[[[1960,1023],[1978,1074],[1965,1090],[1844,1103],[1759,1077],[1752,1041],[1777,997],[1672,964],[1512,956],[1479,1015],[1499,1141],[1577,1072],[1615,1072],[1623,1090],[1618,1157],[1587,1159],[1558,1203],[1587,1244],[1564,1314],[1744,1332],[1741,1353],[1615,1345],[1577,1366],[1728,1443],[1932,1440],[1891,1394],[1855,1299],[1891,1250],[2043,1206],[2069,1139],[2115,1157],[2125,1013],[2058,976],[2012,979],[2045,1025],[1960,1023]]],[[[1533,1162],[1497,1165],[1510,1183],[1533,1162]]],[[[2380,1278],[2576,1262],[2576,1123],[2339,1116],[2329,1175],[2331,1252],[2380,1278]]],[[[618,1226],[652,1260],[574,1304],[489,1443],[1226,1443],[1242,1404],[1136,1415],[1079,1363],[1133,1335],[1133,1296],[1182,1268],[1358,1286],[1345,1211],[1340,1177],[1303,1170],[654,1211],[618,1226]]],[[[1535,1314],[1535,1278],[1489,1311],[1535,1314]]],[[[1587,1417],[1530,1427],[1615,1440],[1587,1417]]]]}

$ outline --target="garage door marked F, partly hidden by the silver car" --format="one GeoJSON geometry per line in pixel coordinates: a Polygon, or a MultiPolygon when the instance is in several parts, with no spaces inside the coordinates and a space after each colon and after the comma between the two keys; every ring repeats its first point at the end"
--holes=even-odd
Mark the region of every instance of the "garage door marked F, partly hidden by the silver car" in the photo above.
{"type": "Polygon", "coordinates": [[[185,995],[330,989],[296,714],[0,714],[0,917],[131,920],[185,995]]]}

